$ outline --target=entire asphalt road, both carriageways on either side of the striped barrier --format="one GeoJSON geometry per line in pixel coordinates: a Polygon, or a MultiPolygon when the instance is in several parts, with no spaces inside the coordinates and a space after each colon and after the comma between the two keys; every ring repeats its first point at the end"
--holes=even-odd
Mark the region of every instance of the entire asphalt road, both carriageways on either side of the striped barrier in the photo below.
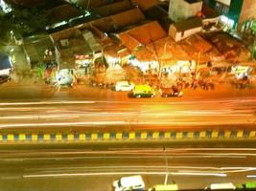
{"type": "MultiPolygon", "coordinates": [[[[1,131],[73,126],[240,127],[254,126],[256,122],[253,91],[232,92],[231,96],[196,91],[180,99],[131,99],[127,93],[95,88],[78,87],[58,93],[48,88],[23,88],[0,88],[1,131]]],[[[232,142],[230,146],[236,144],[232,142]]],[[[246,144],[244,149],[148,147],[41,146],[23,150],[5,149],[2,145],[0,191],[107,191],[111,190],[113,180],[134,174],[141,174],[148,188],[163,183],[167,172],[169,182],[175,180],[181,189],[203,188],[212,182],[242,183],[255,178],[256,149],[246,148],[246,144]]]]}

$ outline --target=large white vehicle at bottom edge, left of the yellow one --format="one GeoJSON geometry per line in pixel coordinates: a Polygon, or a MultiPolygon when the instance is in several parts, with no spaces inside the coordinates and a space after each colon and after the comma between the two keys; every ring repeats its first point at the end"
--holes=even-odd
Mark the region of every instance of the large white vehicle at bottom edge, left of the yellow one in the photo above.
{"type": "Polygon", "coordinates": [[[139,175],[115,180],[113,186],[115,191],[145,190],[145,183],[139,175]]]}

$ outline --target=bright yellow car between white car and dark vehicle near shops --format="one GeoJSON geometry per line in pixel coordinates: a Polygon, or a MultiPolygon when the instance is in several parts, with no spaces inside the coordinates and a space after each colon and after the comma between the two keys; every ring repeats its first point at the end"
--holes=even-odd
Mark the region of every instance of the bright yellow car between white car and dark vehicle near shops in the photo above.
{"type": "Polygon", "coordinates": [[[136,85],[132,91],[132,97],[153,97],[155,96],[154,90],[149,85],[136,85]]]}

